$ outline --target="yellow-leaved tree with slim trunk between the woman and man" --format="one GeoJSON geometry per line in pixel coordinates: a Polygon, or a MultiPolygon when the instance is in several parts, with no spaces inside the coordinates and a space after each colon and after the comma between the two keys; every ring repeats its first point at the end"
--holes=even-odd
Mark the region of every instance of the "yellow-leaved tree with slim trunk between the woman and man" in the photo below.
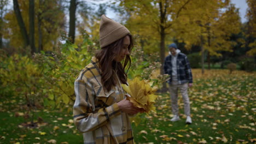
{"type": "MultiPolygon", "coordinates": [[[[143,19],[150,21],[148,23],[148,25],[152,26],[150,30],[157,32],[160,41],[160,60],[164,64],[166,35],[170,34],[173,22],[179,17],[179,13],[186,9],[189,2],[190,0],[122,0],[120,6],[124,7],[127,11],[131,11],[134,16],[143,17],[143,19]]],[[[163,65],[161,66],[160,74],[164,74],[163,65]]],[[[163,83],[163,89],[166,89],[166,83],[163,83]]]]}

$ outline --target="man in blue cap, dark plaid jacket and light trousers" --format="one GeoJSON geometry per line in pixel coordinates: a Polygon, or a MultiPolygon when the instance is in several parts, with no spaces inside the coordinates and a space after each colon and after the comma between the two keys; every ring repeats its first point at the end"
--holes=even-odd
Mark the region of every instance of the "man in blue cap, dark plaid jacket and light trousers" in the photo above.
{"type": "Polygon", "coordinates": [[[179,107],[178,107],[178,89],[181,91],[184,102],[184,113],[187,116],[186,123],[191,124],[190,104],[188,97],[188,87],[193,86],[192,72],[187,56],[177,49],[175,43],[168,46],[169,53],[165,58],[164,72],[170,75],[169,91],[172,104],[173,118],[172,122],[179,121],[179,107]]]}

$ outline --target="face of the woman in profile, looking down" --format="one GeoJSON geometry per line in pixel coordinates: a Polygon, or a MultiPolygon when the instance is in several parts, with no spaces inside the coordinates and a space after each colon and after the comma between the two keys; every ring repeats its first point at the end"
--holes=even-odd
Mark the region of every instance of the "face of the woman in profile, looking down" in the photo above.
{"type": "Polygon", "coordinates": [[[129,55],[129,49],[128,49],[129,45],[130,45],[130,37],[126,35],[123,40],[123,47],[121,49],[121,52],[119,53],[119,55],[114,57],[115,61],[121,62],[126,57],[126,55],[129,55]]]}

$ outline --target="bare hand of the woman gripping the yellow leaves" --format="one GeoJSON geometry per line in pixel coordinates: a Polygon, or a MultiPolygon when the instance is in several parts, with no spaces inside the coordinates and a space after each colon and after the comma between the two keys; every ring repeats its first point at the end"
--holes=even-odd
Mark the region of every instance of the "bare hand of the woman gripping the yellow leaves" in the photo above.
{"type": "Polygon", "coordinates": [[[133,104],[126,99],[123,99],[121,101],[119,101],[118,103],[118,107],[121,111],[125,112],[125,113],[129,113],[129,114],[136,114],[138,112],[143,112],[143,109],[139,109],[138,107],[133,106],[133,104]]]}

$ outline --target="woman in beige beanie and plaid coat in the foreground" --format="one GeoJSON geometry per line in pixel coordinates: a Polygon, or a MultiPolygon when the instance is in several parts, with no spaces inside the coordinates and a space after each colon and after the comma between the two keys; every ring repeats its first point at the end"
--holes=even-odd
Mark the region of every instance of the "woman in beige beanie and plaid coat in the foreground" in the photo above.
{"type": "Polygon", "coordinates": [[[121,87],[127,80],[125,67],[131,64],[132,36],[126,27],[102,15],[100,45],[75,80],[74,123],[84,143],[133,143],[128,115],[140,110],[125,99],[121,87]]]}

